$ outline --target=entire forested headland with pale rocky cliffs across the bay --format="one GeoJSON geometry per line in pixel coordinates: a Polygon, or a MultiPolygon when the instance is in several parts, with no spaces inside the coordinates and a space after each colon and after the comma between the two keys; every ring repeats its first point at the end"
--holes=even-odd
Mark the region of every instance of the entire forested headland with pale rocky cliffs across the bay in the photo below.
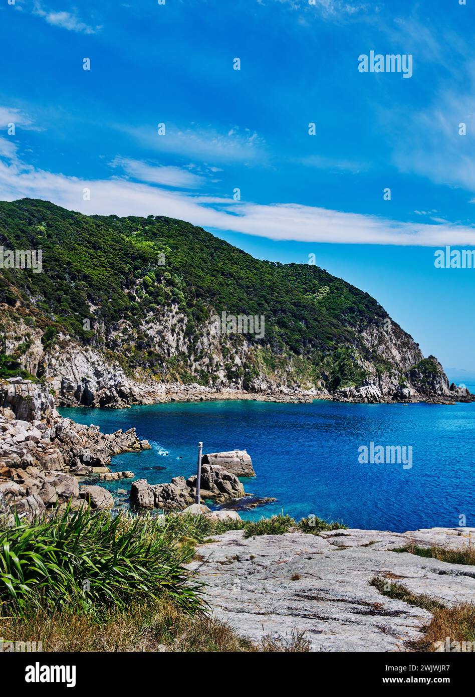
{"type": "Polygon", "coordinates": [[[0,202],[0,242],[42,247],[44,266],[0,271],[0,377],[31,374],[58,404],[460,396],[367,293],[316,266],[252,259],[182,221],[24,199],[0,202]],[[223,331],[211,321],[223,312],[263,316],[265,331],[223,331]]]}

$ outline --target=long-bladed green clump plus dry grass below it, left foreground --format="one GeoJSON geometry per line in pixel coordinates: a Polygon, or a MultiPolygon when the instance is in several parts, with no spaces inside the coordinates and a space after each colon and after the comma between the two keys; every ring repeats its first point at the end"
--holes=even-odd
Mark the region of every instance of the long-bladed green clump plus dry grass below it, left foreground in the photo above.
{"type": "Polygon", "coordinates": [[[260,645],[237,636],[208,615],[207,589],[185,567],[196,545],[248,524],[69,507],[0,516],[2,631],[44,651],[308,651],[303,633],[260,645]]]}

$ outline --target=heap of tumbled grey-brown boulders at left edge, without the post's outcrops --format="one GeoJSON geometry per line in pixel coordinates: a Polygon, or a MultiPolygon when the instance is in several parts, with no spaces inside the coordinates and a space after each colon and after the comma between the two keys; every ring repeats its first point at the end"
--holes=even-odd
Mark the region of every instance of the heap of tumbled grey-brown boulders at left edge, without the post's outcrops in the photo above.
{"type": "Polygon", "coordinates": [[[150,448],[147,441],[139,441],[134,428],[102,434],[96,426],[61,418],[52,395],[29,381],[0,383],[0,405],[0,499],[4,510],[9,507],[33,515],[65,502],[72,507],[110,508],[114,501],[109,491],[81,487],[78,477],[103,475],[113,455],[150,448]]]}

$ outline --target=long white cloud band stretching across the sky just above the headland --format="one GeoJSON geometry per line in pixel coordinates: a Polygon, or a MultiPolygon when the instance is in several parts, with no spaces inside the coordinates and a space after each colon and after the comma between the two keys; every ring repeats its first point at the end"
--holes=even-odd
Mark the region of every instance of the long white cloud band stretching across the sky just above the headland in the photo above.
{"type": "Polygon", "coordinates": [[[35,169],[22,162],[13,144],[0,138],[0,199],[33,197],[82,213],[167,215],[202,227],[274,240],[425,245],[475,245],[475,227],[441,222],[400,222],[299,204],[254,204],[195,196],[123,178],[87,180],[35,169]],[[84,201],[88,188],[91,200],[84,201]]]}

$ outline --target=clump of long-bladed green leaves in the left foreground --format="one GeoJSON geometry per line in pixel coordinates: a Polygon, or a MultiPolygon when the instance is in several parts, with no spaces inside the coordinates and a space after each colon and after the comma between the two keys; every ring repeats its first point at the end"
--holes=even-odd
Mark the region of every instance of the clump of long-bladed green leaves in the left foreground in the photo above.
{"type": "Polygon", "coordinates": [[[178,539],[157,518],[69,508],[33,523],[17,518],[0,530],[0,615],[59,606],[100,614],[163,595],[196,612],[199,586],[183,566],[193,550],[178,539]]]}

